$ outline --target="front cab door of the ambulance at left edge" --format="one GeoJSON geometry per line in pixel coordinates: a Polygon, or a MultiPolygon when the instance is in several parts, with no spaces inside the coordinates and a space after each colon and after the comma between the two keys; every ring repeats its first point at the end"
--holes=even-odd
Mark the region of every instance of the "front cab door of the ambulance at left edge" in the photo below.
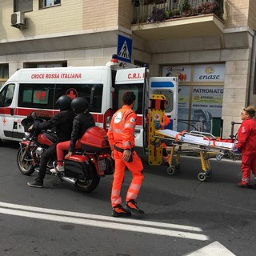
{"type": "Polygon", "coordinates": [[[14,100],[15,84],[10,83],[0,91],[0,138],[15,138],[14,130],[17,130],[17,122],[15,120],[15,100],[14,100]]]}

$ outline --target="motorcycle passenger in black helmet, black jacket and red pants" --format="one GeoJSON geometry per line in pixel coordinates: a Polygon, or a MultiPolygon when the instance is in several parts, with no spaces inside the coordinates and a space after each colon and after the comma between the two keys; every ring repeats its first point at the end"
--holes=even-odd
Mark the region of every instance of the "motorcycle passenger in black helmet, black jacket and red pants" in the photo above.
{"type": "Polygon", "coordinates": [[[77,116],[74,118],[70,141],[61,142],[57,145],[58,166],[56,166],[57,170],[55,168],[50,170],[52,173],[56,174],[58,171],[64,170],[62,160],[64,159],[65,150],[69,150],[68,154],[66,154],[66,158],[70,157],[74,150],[81,147],[79,141],[86,130],[95,126],[94,117],[88,111],[88,106],[89,104],[86,98],[82,97],[74,98],[71,102],[71,107],[74,109],[74,112],[77,113],[77,116]]]}

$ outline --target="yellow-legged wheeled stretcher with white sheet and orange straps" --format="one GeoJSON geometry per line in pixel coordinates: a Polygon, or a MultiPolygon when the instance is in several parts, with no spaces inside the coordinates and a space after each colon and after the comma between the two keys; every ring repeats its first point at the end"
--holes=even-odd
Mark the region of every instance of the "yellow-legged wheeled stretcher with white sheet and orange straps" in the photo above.
{"type": "Polygon", "coordinates": [[[236,152],[236,143],[231,139],[221,140],[215,138],[214,135],[191,131],[190,133],[174,130],[156,130],[154,133],[154,146],[160,145],[162,142],[170,146],[170,158],[167,174],[173,175],[181,170],[180,155],[182,153],[198,152],[202,166],[202,172],[198,174],[198,180],[204,182],[206,178],[210,178],[212,170],[210,168],[210,158],[222,160],[224,156],[235,160],[238,158],[236,152]],[[186,146],[186,150],[182,150],[182,146],[186,146]],[[177,150],[175,148],[178,147],[177,150]],[[176,154],[173,164],[174,153],[176,154]]]}

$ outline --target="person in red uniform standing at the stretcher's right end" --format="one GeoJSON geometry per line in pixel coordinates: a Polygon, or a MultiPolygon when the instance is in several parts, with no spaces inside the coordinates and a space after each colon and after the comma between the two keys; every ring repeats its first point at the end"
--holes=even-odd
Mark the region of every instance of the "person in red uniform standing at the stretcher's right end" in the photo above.
{"type": "Polygon", "coordinates": [[[253,106],[247,106],[241,112],[242,124],[238,130],[237,150],[242,154],[242,181],[237,186],[256,188],[256,121],[253,106]],[[250,186],[250,170],[254,174],[254,185],[250,186]]]}

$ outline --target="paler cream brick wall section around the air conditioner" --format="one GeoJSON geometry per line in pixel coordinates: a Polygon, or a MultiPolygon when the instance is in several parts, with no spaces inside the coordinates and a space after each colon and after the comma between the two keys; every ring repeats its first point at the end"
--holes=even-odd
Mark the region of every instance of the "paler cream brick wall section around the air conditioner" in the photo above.
{"type": "Polygon", "coordinates": [[[5,21],[0,28],[0,39],[14,39],[82,30],[82,0],[62,0],[61,6],[53,6],[41,10],[38,10],[38,1],[34,1],[33,11],[25,13],[27,29],[23,30],[10,26],[13,1],[12,4],[6,5],[4,2],[0,2],[0,10],[2,10],[2,19],[5,21]]]}

